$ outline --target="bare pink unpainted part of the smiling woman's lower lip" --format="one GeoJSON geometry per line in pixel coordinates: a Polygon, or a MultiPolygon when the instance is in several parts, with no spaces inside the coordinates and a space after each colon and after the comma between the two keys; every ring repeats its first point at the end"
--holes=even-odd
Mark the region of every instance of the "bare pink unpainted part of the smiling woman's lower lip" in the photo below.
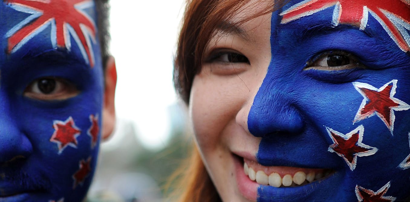
{"type": "Polygon", "coordinates": [[[235,173],[236,181],[239,192],[248,200],[256,201],[257,199],[257,188],[259,184],[249,179],[245,175],[243,163],[241,163],[240,157],[234,155],[235,161],[235,173]]]}

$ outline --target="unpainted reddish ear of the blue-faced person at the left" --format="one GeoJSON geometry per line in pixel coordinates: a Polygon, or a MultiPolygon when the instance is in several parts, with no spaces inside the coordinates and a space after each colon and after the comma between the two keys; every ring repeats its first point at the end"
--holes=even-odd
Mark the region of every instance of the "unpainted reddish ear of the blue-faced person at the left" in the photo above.
{"type": "Polygon", "coordinates": [[[103,103],[103,129],[102,139],[106,140],[113,132],[115,126],[114,95],[117,83],[117,70],[114,57],[110,56],[105,67],[105,90],[103,103]]]}

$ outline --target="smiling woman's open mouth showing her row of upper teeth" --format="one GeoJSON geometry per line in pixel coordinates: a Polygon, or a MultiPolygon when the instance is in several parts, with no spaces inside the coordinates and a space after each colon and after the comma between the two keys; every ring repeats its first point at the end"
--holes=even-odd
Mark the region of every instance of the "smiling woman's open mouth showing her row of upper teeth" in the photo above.
{"type": "Polygon", "coordinates": [[[257,184],[273,187],[296,187],[323,179],[333,173],[330,169],[262,166],[255,161],[244,161],[244,172],[257,184]]]}

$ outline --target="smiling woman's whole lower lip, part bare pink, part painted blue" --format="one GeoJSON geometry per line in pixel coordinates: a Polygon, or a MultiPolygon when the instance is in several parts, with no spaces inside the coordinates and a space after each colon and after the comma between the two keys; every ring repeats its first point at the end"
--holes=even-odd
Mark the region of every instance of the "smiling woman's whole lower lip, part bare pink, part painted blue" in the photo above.
{"type": "Polygon", "coordinates": [[[241,194],[251,201],[282,202],[289,200],[289,198],[292,198],[294,201],[310,201],[313,200],[312,197],[316,195],[319,197],[320,195],[330,194],[326,194],[323,188],[327,190],[335,189],[339,184],[338,182],[341,182],[343,179],[342,172],[334,172],[328,177],[303,186],[276,188],[268,185],[260,185],[245,175],[243,163],[241,163],[240,158],[241,157],[234,155],[237,186],[241,194]]]}

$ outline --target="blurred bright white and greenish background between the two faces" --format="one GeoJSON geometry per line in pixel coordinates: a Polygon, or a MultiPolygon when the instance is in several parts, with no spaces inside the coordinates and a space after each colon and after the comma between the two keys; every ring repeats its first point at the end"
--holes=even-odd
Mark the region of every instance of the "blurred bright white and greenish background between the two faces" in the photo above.
{"type": "Polygon", "coordinates": [[[183,0],[114,1],[111,53],[116,57],[117,125],[100,148],[89,190],[106,201],[161,201],[167,177],[186,157],[186,111],[172,83],[183,0]]]}

